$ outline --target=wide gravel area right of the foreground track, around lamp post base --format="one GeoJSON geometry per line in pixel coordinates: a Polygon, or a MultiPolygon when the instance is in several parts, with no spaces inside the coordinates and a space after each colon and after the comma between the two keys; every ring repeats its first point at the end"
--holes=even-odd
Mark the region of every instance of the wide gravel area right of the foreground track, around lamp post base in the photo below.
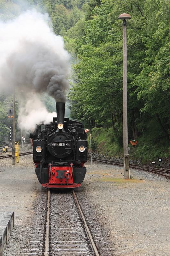
{"type": "MultiPolygon", "coordinates": [[[[169,256],[170,180],[130,170],[133,179],[126,181],[122,167],[105,164],[88,164],[87,170],[77,195],[84,212],[98,216],[105,243],[111,241],[110,254],[102,247],[101,255],[169,256]]],[[[94,222],[88,222],[92,229],[94,222]]]]}

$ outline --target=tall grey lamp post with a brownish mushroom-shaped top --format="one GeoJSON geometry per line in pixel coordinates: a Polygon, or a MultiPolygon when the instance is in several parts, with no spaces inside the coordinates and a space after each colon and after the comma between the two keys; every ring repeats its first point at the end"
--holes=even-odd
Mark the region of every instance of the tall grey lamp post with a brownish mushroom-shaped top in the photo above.
{"type": "Polygon", "coordinates": [[[127,114],[127,43],[126,43],[126,20],[130,15],[122,13],[118,19],[123,20],[123,162],[124,178],[130,179],[129,154],[128,154],[128,114],[127,114]]]}

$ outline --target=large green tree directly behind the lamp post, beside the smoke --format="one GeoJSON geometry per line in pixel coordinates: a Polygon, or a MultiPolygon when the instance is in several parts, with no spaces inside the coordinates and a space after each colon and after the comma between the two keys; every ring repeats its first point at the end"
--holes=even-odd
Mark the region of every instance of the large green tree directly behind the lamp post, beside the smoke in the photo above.
{"type": "MultiPolygon", "coordinates": [[[[139,66],[145,57],[141,29],[143,2],[138,6],[131,1],[133,20],[128,22],[128,120],[129,136],[135,138],[141,132],[137,121],[141,118],[142,102],[137,100],[136,88],[131,83],[141,71],[139,66]]],[[[79,118],[88,120],[92,127],[112,126],[117,134],[122,134],[122,23],[117,20],[121,12],[129,12],[129,1],[122,4],[122,1],[107,0],[92,10],[92,19],[82,26],[82,38],[75,39],[80,62],[75,66],[78,82],[70,92],[70,100],[75,105],[73,116],[78,108],[79,118]]]]}

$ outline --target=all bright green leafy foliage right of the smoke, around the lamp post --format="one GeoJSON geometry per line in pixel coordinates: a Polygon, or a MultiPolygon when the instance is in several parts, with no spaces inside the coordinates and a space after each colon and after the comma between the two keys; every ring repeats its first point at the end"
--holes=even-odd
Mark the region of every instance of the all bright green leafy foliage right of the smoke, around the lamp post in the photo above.
{"type": "Polygon", "coordinates": [[[83,10],[81,26],[78,21],[65,37],[68,49],[78,58],[69,95],[72,117],[91,129],[112,127],[114,134],[109,136],[122,141],[122,21],[117,18],[129,13],[128,137],[147,137],[151,143],[161,139],[166,151],[170,140],[170,2],[94,0],[84,4],[83,10]]]}

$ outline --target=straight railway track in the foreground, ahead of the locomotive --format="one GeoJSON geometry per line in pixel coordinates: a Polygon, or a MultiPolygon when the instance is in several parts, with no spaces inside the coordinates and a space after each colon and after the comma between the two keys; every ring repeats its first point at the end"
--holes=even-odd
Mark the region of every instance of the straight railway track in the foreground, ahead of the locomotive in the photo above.
{"type": "Polygon", "coordinates": [[[74,190],[48,193],[44,255],[99,256],[74,190]]]}

